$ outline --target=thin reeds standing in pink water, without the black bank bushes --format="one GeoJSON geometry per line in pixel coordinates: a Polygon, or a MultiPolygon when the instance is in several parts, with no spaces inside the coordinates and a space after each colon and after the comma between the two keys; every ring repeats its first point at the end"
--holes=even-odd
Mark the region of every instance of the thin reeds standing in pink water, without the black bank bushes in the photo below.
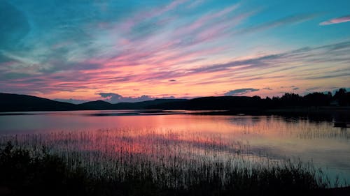
{"type": "Polygon", "coordinates": [[[310,163],[251,154],[248,144],[219,134],[152,128],[56,131],[2,135],[0,149],[8,141],[31,157],[61,158],[69,172],[83,168],[88,179],[150,181],[157,190],[181,195],[318,190],[330,184],[310,163]]]}

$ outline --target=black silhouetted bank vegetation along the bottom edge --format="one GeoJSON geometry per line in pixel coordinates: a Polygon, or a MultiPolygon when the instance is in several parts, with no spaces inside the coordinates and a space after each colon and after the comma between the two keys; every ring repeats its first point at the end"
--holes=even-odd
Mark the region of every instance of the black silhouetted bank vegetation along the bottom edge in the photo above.
{"type": "Polygon", "coordinates": [[[70,169],[45,148],[40,154],[33,152],[10,142],[0,150],[0,195],[350,195],[349,187],[328,188],[329,183],[315,172],[291,165],[251,172],[236,168],[226,184],[203,175],[194,185],[166,188],[147,172],[131,168],[123,181],[96,178],[89,176],[87,168],[70,169]]]}

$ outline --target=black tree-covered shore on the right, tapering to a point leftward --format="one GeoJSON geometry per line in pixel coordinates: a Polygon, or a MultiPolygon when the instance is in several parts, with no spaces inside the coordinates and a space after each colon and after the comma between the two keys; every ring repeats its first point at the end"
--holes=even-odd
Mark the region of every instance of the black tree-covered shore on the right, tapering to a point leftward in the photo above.
{"type": "Polygon", "coordinates": [[[281,97],[260,98],[259,96],[222,96],[204,97],[184,100],[176,103],[151,105],[147,109],[163,110],[242,110],[264,111],[290,107],[350,106],[350,92],[339,89],[332,93],[309,93],[300,96],[296,93],[285,93],[281,97]]]}

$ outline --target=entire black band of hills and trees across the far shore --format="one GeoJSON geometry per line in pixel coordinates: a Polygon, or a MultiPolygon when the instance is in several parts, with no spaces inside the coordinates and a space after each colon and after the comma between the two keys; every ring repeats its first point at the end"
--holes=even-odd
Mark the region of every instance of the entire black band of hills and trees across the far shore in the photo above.
{"type": "Polygon", "coordinates": [[[35,96],[0,93],[0,112],[59,111],[59,110],[230,110],[234,112],[261,113],[267,110],[349,107],[350,92],[339,89],[332,93],[309,93],[300,96],[285,93],[281,97],[217,96],[187,99],[155,99],[138,103],[111,104],[103,100],[82,104],[63,103],[35,96]]]}

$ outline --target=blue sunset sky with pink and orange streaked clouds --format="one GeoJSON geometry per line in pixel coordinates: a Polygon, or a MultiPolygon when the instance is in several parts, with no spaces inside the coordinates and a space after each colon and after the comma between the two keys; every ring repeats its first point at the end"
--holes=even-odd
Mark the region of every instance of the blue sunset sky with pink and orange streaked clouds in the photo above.
{"type": "Polygon", "coordinates": [[[349,0],[0,0],[0,92],[118,103],[349,88],[349,8],[349,0]]]}

